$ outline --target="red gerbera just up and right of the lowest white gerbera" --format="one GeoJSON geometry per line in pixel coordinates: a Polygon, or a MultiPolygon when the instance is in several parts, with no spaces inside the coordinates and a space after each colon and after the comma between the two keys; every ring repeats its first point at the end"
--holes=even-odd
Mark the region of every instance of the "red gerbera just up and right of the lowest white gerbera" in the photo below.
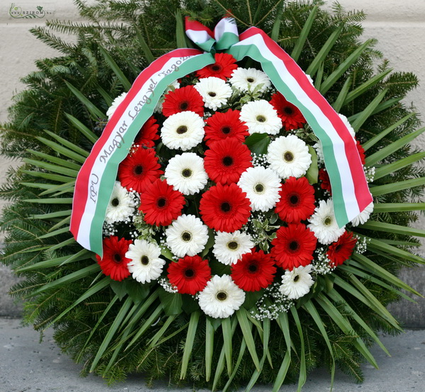
{"type": "Polygon", "coordinates": [[[274,259],[270,254],[259,252],[245,253],[242,260],[232,264],[232,279],[240,289],[259,291],[266,289],[276,274],[274,259]]]}

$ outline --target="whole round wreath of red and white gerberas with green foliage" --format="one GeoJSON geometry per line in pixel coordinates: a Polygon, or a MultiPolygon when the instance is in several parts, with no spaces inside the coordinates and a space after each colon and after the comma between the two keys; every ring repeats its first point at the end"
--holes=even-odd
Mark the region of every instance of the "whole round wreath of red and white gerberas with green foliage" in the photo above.
{"type": "MultiPolygon", "coordinates": [[[[338,367],[361,381],[363,361],[378,366],[368,347],[386,352],[378,330],[401,330],[385,307],[406,298],[402,290],[418,294],[397,272],[424,263],[412,252],[424,230],[409,228],[425,209],[415,165],[425,153],[409,147],[423,130],[400,103],[416,78],[391,74],[387,62],[375,73],[380,53],[358,42],[362,13],[281,1],[185,4],[79,3],[92,23],[48,23],[75,33],[75,44],[33,30],[64,56],[38,62],[4,125],[3,153],[24,162],[1,189],[11,201],[1,261],[24,278],[11,293],[26,299],[26,323],[55,327],[82,373],[108,383],[143,372],[148,383],[168,376],[196,388],[249,391],[262,382],[278,391],[297,381],[300,390],[316,366],[332,380],[338,367]],[[338,223],[339,187],[315,117],[306,121],[270,69],[237,60],[220,40],[205,40],[206,54],[187,50],[200,53],[199,65],[166,74],[133,136],[118,128],[108,147],[96,147],[140,72],[193,47],[182,13],[208,26],[231,16],[239,31],[258,26],[283,47],[304,69],[304,88],[340,113],[348,162],[358,161],[354,177],[373,203],[338,223]],[[122,159],[101,180],[84,177],[94,153],[101,163],[122,159]],[[105,207],[98,233],[80,225],[83,247],[69,233],[75,211],[89,208],[81,177],[86,199],[105,207]]],[[[130,109],[135,117],[140,106],[130,109]]]]}

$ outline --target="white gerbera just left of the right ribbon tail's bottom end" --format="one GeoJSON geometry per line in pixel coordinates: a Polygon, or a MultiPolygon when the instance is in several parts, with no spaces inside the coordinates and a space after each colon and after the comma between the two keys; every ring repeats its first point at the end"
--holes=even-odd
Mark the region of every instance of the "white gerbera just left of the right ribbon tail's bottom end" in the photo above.
{"type": "Polygon", "coordinates": [[[331,198],[327,201],[319,201],[319,206],[314,210],[314,214],[308,220],[307,228],[310,228],[317,240],[323,245],[329,245],[338,240],[344,234],[345,226],[338,227],[334,214],[334,203],[331,198]]]}

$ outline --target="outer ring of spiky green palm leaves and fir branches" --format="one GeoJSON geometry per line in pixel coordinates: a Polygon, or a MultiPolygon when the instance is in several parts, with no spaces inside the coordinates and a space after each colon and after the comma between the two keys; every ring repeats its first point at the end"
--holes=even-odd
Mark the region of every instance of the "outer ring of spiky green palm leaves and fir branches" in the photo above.
{"type": "Polygon", "coordinates": [[[26,300],[26,323],[40,331],[53,325],[57,344],[82,373],[109,383],[140,371],[148,383],[168,377],[225,390],[243,383],[249,390],[260,382],[278,391],[283,382],[301,387],[307,372],[323,365],[332,377],[338,367],[361,381],[361,362],[377,365],[368,347],[378,342],[385,350],[376,332],[400,330],[385,306],[405,297],[400,289],[418,294],[397,272],[424,262],[412,253],[419,245],[414,236],[424,231],[409,228],[414,211],[425,208],[424,172],[414,164],[424,154],[409,147],[422,130],[400,102],[416,77],[391,73],[387,62],[373,69],[380,53],[373,40],[361,43],[363,13],[336,5],[329,14],[319,8],[322,1],[186,0],[183,8],[170,0],[75,2],[86,22],[50,21],[32,30],[62,56],[39,60],[38,71],[23,78],[28,89],[15,96],[10,122],[2,125],[2,153],[25,162],[9,170],[1,187],[11,201],[1,218],[1,261],[23,277],[11,294],[26,300]],[[367,163],[377,167],[375,213],[356,230],[370,239],[368,252],[319,278],[312,295],[276,321],[254,320],[245,308],[214,320],[189,296],[117,285],[68,232],[74,181],[112,99],[155,57],[191,45],[183,16],[214,26],[226,13],[239,30],[263,28],[297,58],[349,118],[367,163]],[[56,33],[74,35],[74,43],[56,33]]]}

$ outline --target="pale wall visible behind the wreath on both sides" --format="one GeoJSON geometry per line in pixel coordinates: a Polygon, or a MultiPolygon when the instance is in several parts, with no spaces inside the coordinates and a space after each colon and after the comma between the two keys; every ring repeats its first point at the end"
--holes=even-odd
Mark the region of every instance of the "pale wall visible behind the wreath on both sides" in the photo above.
{"type": "MultiPolygon", "coordinates": [[[[44,18],[12,18],[9,14],[11,1],[2,0],[0,4],[0,122],[6,121],[6,108],[11,104],[11,97],[24,86],[19,78],[35,70],[34,61],[40,57],[57,55],[55,50],[35,40],[28,29],[40,26],[47,18],[77,21],[79,15],[72,0],[25,0],[14,1],[16,6],[23,4],[24,11],[36,10],[43,6],[47,11],[44,18]]],[[[414,72],[421,82],[416,91],[406,99],[406,103],[414,103],[419,113],[425,113],[425,1],[424,0],[339,0],[347,10],[363,9],[368,14],[363,23],[364,39],[378,38],[377,48],[388,58],[396,71],[414,72]]],[[[331,8],[331,1],[327,7],[331,8]]],[[[13,11],[13,10],[12,10],[13,11]]],[[[17,16],[15,14],[15,16],[17,16]]],[[[416,145],[424,150],[425,138],[416,141],[416,145]]],[[[0,181],[5,181],[8,162],[0,157],[0,181]]],[[[2,202],[0,202],[0,207],[2,202]]],[[[416,223],[418,228],[425,228],[425,218],[416,223]]],[[[424,242],[425,245],[425,242],[424,242]]],[[[425,255],[425,248],[421,248],[425,255]]],[[[404,271],[402,274],[409,284],[421,293],[425,293],[425,268],[404,271]]],[[[0,266],[0,315],[18,315],[19,305],[8,297],[8,288],[16,281],[6,267],[0,266]]],[[[408,326],[425,327],[425,300],[420,299],[417,305],[407,301],[391,306],[408,326]]]]}

